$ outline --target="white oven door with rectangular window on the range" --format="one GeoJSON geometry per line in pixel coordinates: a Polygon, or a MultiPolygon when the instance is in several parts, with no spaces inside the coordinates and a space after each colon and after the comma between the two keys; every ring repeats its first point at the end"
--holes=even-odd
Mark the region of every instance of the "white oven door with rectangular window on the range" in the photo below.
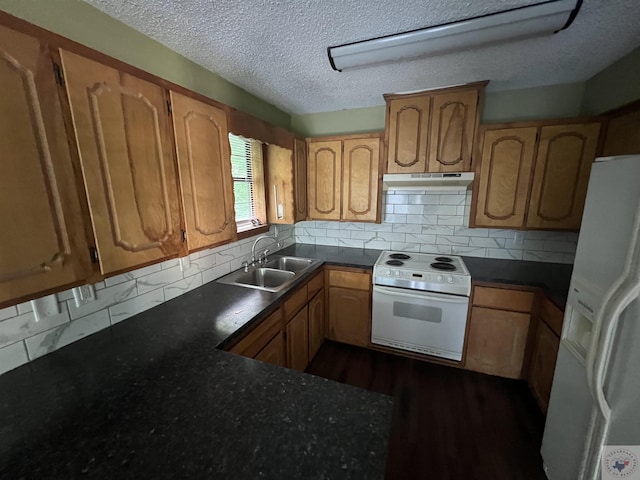
{"type": "Polygon", "coordinates": [[[373,286],[371,343],[462,360],[469,297],[373,286]]]}

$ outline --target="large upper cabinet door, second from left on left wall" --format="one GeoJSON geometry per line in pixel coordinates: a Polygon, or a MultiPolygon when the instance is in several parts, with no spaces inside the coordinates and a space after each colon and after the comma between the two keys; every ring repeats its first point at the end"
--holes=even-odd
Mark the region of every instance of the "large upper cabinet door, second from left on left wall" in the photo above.
{"type": "Polygon", "coordinates": [[[100,268],[108,274],[182,249],[165,91],[61,50],[100,268]]]}

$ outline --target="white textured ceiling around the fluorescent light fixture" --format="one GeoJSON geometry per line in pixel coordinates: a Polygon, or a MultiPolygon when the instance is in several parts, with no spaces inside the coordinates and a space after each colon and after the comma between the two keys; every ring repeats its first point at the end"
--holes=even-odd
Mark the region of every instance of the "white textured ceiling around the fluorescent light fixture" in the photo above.
{"type": "Polygon", "coordinates": [[[332,45],[540,0],[85,0],[284,111],[369,107],[382,94],[490,80],[492,91],[584,81],[640,46],[638,0],[584,0],[556,35],[335,72],[332,45]]]}

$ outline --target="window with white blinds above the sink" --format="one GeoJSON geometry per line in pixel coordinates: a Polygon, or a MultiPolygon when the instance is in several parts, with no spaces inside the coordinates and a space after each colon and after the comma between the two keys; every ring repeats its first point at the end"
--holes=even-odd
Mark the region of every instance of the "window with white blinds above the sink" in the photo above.
{"type": "Polygon", "coordinates": [[[231,175],[238,232],[265,222],[262,143],[229,134],[231,175]]]}

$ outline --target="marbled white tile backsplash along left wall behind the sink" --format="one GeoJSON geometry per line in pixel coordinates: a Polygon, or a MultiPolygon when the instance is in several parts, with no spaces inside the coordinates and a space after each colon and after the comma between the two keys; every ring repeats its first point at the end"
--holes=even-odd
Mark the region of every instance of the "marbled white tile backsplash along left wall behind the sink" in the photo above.
{"type": "MultiPolygon", "coordinates": [[[[282,248],[294,243],[293,225],[277,230],[282,248]]],[[[240,268],[255,238],[107,278],[95,285],[95,301],[80,307],[71,290],[59,292],[60,313],[40,321],[30,302],[0,309],[0,374],[240,268]]]]}

